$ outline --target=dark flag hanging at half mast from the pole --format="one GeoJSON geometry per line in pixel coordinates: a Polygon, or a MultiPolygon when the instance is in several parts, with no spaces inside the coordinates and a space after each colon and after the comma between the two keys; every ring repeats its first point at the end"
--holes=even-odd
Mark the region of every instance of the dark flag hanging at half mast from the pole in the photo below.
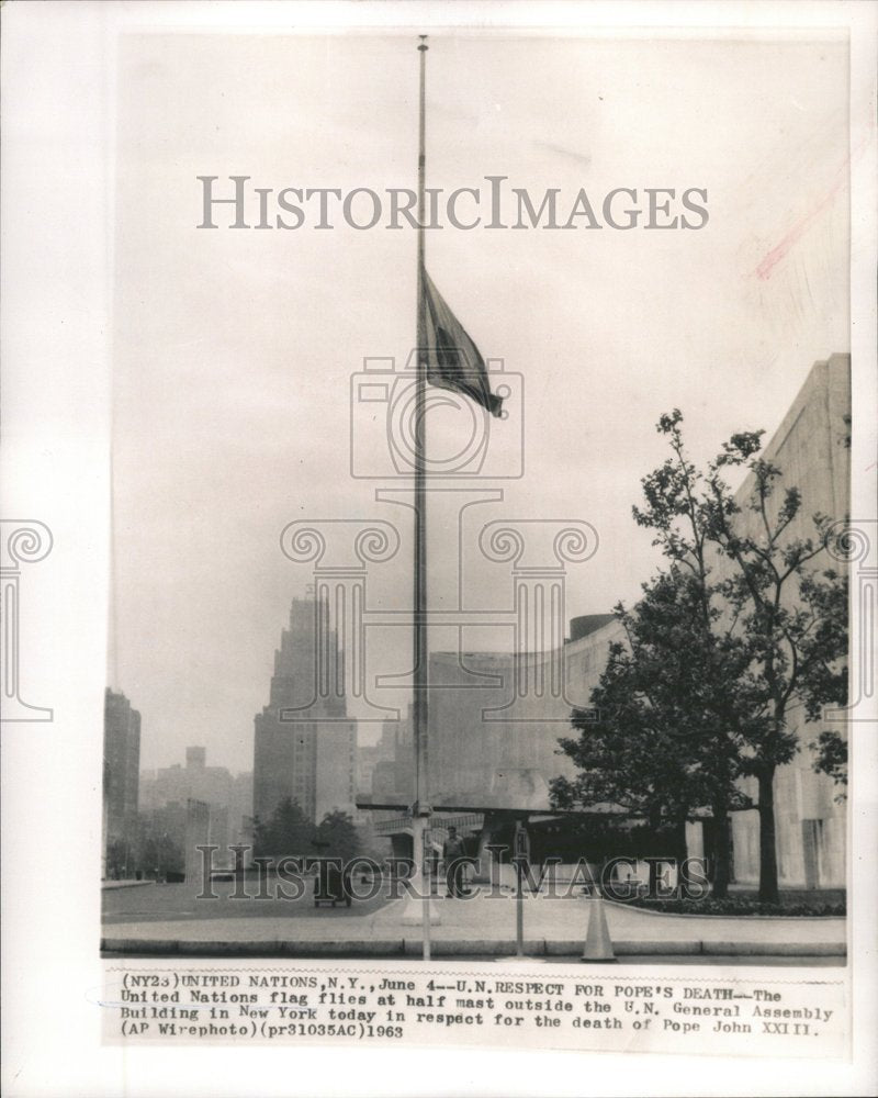
{"type": "Polygon", "coordinates": [[[426,268],[421,268],[421,287],[418,344],[426,359],[427,380],[439,389],[463,393],[494,416],[503,415],[503,397],[491,391],[485,360],[426,268]]]}

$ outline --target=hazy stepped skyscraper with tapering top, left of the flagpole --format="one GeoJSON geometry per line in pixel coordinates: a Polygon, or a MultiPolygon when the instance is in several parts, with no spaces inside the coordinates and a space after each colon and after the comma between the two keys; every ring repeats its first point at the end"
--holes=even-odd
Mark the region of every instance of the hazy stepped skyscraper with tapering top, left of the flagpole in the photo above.
{"type": "Polygon", "coordinates": [[[294,598],[274,652],[269,702],[255,718],[254,816],[286,797],[319,822],[354,811],[357,721],[348,716],[344,652],[323,598],[294,598]]]}

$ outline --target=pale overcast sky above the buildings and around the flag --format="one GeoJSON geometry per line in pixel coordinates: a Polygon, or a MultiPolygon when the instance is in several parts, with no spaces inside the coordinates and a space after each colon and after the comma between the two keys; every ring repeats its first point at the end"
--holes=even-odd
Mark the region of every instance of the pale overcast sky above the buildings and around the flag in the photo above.
{"type": "MultiPolygon", "coordinates": [[[[233,175],[275,192],[414,188],[414,46],[155,33],[120,51],[109,684],[142,713],[144,768],[199,743],[209,763],[251,769],[280,630],[311,580],[280,550],[289,523],[396,524],[401,552],[370,571],[370,606],[405,608],[406,512],[351,477],[351,429],[378,460],[383,411],[358,407],[351,428],[349,394],[364,358],[410,350],[416,233],[340,216],[331,231],[234,231],[221,214],[199,229],[196,177],[226,192],[233,175]]],[[[596,206],[619,187],[708,192],[698,231],[426,234],[446,301],[522,379],[489,446],[492,470],[508,469],[504,430],[524,430],[524,475],[481,478],[504,496],[480,514],[589,523],[599,547],[570,567],[565,612],[605,613],[658,563],[631,517],[665,457],[658,416],[682,408],[705,462],[732,432],[770,436],[812,363],[849,349],[846,44],[449,34],[427,64],[429,187],[486,194],[503,175],[538,200],[558,188],[561,210],[579,188],[596,206]]],[[[470,422],[440,408],[431,429],[453,441],[470,422]]],[[[448,605],[450,496],[429,545],[431,605],[448,605]]],[[[508,565],[477,557],[477,598],[505,606],[508,565]]],[[[431,647],[452,639],[437,629],[431,647]]],[[[471,649],[504,643],[466,631],[471,649]]],[[[370,648],[369,674],[406,659],[395,630],[370,648]]],[[[360,741],[376,735],[364,724],[360,741]]]]}

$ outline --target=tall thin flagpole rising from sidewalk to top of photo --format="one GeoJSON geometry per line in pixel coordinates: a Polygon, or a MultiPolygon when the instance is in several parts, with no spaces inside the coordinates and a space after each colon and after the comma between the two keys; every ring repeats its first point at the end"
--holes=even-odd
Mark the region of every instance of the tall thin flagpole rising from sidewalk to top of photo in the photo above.
{"type": "Polygon", "coordinates": [[[428,724],[428,663],[427,650],[427,493],[426,493],[426,446],[427,446],[427,361],[424,341],[426,324],[424,316],[424,195],[426,177],[426,87],[427,87],[427,35],[421,34],[418,45],[420,54],[420,94],[418,101],[418,249],[417,249],[417,378],[415,421],[415,629],[414,629],[414,747],[415,747],[415,810],[412,814],[412,838],[415,855],[415,881],[423,895],[421,928],[424,935],[424,960],[430,960],[430,882],[425,872],[424,837],[429,809],[427,794],[427,724],[428,724]]]}

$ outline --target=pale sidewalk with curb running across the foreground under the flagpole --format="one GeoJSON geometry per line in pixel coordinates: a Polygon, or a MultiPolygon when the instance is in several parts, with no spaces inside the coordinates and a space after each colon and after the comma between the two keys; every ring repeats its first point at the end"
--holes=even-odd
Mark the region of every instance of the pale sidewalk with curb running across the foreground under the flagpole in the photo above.
{"type": "MultiPolygon", "coordinates": [[[[508,896],[434,899],[438,955],[515,953],[516,904],[508,896]]],[[[202,955],[404,956],[421,952],[420,927],[403,921],[405,900],[367,915],[319,918],[190,919],[105,928],[104,952],[202,955]]],[[[525,952],[578,956],[593,900],[525,901],[525,952]]],[[[419,910],[420,905],[417,905],[419,910]]],[[[845,956],[843,918],[728,918],[654,915],[605,901],[617,955],[845,956]]]]}

